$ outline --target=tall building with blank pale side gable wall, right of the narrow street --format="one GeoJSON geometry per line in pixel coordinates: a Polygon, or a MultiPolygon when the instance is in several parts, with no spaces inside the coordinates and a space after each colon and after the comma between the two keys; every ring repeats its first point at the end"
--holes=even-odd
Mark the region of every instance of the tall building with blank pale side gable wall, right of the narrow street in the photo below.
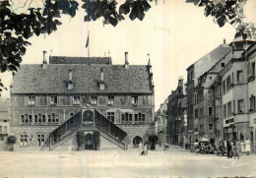
{"type": "MultiPolygon", "coordinates": [[[[200,139],[204,132],[202,132],[202,122],[201,124],[201,135],[199,136],[199,115],[200,118],[207,115],[208,109],[199,108],[203,103],[198,104],[199,100],[203,98],[202,94],[205,94],[205,89],[202,90],[200,87],[200,77],[213,68],[221,59],[224,58],[231,51],[231,47],[225,44],[219,45],[210,53],[206,54],[204,57],[196,61],[194,64],[187,68],[187,122],[188,122],[188,142],[195,142],[200,139]],[[199,79],[199,80],[198,80],[199,79]],[[200,98],[199,98],[200,97],[200,98]],[[199,110],[201,109],[201,111],[199,110]],[[197,118],[195,117],[197,116],[197,118]]],[[[210,76],[209,76],[210,78],[210,76]]],[[[212,77],[213,79],[213,77],[212,77]]],[[[201,100],[200,100],[201,102],[201,100]]],[[[209,105],[211,106],[211,105],[209,105]]],[[[203,126],[204,127],[204,126],[203,126]]]]}

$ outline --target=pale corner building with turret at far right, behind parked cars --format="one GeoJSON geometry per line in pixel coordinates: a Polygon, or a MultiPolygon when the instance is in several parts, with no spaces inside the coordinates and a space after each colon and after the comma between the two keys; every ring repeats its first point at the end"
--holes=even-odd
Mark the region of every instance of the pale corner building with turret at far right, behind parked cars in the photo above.
{"type": "Polygon", "coordinates": [[[255,90],[252,89],[255,74],[250,69],[255,70],[255,66],[253,60],[249,62],[253,57],[248,55],[252,54],[253,43],[250,39],[235,38],[229,44],[232,46],[230,60],[212,84],[215,95],[216,144],[221,140],[244,142],[250,139],[251,148],[254,149],[255,131],[250,116],[254,117],[255,110],[255,93],[252,91],[255,90]]]}

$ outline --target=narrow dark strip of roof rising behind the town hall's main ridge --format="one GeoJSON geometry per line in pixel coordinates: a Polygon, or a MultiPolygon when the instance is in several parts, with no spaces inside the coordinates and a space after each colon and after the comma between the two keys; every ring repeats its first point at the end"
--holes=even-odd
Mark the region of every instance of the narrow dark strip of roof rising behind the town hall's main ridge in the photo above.
{"type": "Polygon", "coordinates": [[[112,64],[110,57],[50,56],[49,64],[112,64]]]}

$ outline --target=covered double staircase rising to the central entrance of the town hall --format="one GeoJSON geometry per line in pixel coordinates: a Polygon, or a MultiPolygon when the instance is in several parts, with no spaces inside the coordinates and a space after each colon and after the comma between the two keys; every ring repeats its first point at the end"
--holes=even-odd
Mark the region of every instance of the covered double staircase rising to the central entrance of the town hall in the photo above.
{"type": "MultiPolygon", "coordinates": [[[[91,109],[92,111],[92,109],[91,109]]],[[[108,120],[102,113],[94,109],[94,121],[87,123],[84,109],[80,109],[74,116],[58,126],[49,134],[49,149],[53,150],[74,138],[79,131],[99,131],[101,137],[113,145],[126,149],[124,143],[127,133],[108,120]]]]}

